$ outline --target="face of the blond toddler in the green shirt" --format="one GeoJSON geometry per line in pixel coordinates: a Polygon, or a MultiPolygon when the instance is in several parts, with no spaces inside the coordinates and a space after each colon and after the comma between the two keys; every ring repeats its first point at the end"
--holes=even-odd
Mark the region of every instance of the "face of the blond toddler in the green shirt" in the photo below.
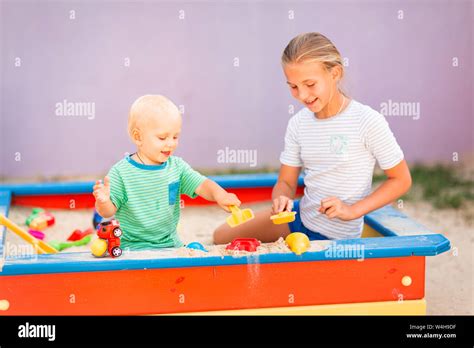
{"type": "Polygon", "coordinates": [[[161,164],[173,154],[178,146],[181,123],[179,113],[150,114],[147,117],[135,143],[149,162],[161,164]]]}

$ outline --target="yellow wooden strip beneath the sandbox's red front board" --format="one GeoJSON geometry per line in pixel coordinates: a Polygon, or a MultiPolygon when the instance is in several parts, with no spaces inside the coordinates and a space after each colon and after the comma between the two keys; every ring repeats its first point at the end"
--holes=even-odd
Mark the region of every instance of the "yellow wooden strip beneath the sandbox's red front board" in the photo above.
{"type": "Polygon", "coordinates": [[[236,309],[178,315],[426,315],[426,300],[359,302],[317,306],[236,309]]]}

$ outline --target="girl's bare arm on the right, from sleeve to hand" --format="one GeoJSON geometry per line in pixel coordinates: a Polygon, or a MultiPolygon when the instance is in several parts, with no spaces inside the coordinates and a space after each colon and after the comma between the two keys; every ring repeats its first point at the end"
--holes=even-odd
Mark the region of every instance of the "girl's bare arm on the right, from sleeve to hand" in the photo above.
{"type": "Polygon", "coordinates": [[[389,204],[408,192],[412,181],[405,160],[384,172],[387,175],[387,180],[364,199],[353,205],[346,205],[337,197],[325,198],[321,201],[319,211],[325,213],[329,218],[353,220],[389,204]]]}

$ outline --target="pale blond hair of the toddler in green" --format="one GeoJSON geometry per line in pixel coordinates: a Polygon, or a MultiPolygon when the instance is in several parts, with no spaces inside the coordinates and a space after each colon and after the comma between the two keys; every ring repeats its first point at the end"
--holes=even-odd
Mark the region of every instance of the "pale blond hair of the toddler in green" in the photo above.
{"type": "Polygon", "coordinates": [[[128,134],[132,137],[132,131],[137,128],[139,121],[150,117],[150,113],[177,113],[178,107],[168,98],[162,95],[144,95],[135,100],[130,107],[128,115],[128,134]]]}

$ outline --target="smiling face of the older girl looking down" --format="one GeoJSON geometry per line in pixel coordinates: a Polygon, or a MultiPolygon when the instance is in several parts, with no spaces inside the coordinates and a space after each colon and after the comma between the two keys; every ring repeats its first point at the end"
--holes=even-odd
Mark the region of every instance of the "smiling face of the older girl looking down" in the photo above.
{"type": "Polygon", "coordinates": [[[291,94],[314,113],[327,110],[334,98],[340,69],[334,67],[326,70],[320,62],[290,63],[283,68],[291,94]]]}

